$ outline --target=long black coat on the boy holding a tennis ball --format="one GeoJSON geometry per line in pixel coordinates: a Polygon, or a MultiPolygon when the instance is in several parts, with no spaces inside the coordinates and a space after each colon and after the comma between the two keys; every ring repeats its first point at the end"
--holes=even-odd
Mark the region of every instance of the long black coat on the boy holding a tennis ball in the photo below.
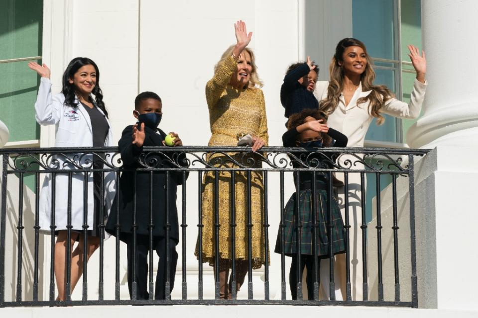
{"type": "MultiPolygon", "coordinates": [[[[159,134],[154,130],[145,127],[145,139],[143,146],[160,146],[166,134],[158,129],[159,134]]],[[[137,147],[131,143],[133,126],[127,126],[123,132],[118,146],[123,161],[124,171],[119,179],[118,192],[111,209],[110,217],[106,225],[106,231],[116,235],[115,225],[120,225],[119,239],[128,241],[133,233],[133,212],[134,212],[134,175],[136,174],[136,234],[149,235],[149,220],[152,217],[154,223],[153,236],[155,239],[166,237],[166,213],[169,214],[169,238],[179,241],[178,213],[176,208],[177,185],[183,183],[183,172],[169,172],[169,191],[166,191],[166,171],[154,171],[152,177],[152,193],[150,193],[150,171],[135,171],[143,167],[138,163],[143,147],[137,147]],[[166,209],[166,194],[169,197],[169,209],[166,209]],[[150,200],[152,209],[150,212],[150,200]],[[150,214],[151,213],[151,214],[150,214]],[[119,218],[118,218],[119,214],[119,218]]],[[[170,153],[171,158],[173,153],[170,153]]],[[[185,155],[179,156],[178,161],[183,162],[185,155]]],[[[169,160],[163,155],[147,155],[145,160],[154,167],[172,167],[169,160]]],[[[187,178],[186,173],[186,178],[187,178]]]]}

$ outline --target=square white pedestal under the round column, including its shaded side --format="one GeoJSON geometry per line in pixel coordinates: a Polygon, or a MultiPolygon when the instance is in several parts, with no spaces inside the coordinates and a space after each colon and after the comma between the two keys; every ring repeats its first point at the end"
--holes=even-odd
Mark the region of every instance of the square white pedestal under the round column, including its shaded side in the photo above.
{"type": "MultiPolygon", "coordinates": [[[[458,134],[459,132],[457,132],[458,134]]],[[[478,311],[476,180],[478,149],[439,146],[415,161],[415,234],[419,308],[478,311]]],[[[410,298],[408,178],[397,182],[399,267],[402,299],[410,298]]],[[[382,261],[385,298],[393,297],[391,185],[381,191],[382,261]],[[388,231],[388,232],[387,232],[388,231]]],[[[375,206],[375,203],[373,203],[375,206]]],[[[375,216],[375,207],[374,207],[375,216]]],[[[368,272],[376,297],[375,218],[369,224],[368,272]]]]}

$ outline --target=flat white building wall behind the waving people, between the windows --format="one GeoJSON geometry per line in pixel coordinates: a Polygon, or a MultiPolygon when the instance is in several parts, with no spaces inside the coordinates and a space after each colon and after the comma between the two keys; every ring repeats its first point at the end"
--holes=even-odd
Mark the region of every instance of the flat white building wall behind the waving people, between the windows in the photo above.
{"type": "MultiPolygon", "coordinates": [[[[165,131],[178,132],[185,145],[206,145],[210,137],[209,114],[204,87],[214,65],[226,48],[234,44],[234,22],[242,19],[253,31],[250,47],[264,82],[269,145],[280,146],[285,130],[279,91],[287,66],[311,55],[319,64],[321,79],[327,78],[335,45],[352,35],[352,1],[333,0],[208,0],[174,2],[154,0],[45,0],[43,62],[52,70],[53,93],[61,90],[61,76],[77,56],[93,59],[100,68],[100,84],[110,113],[115,138],[134,123],[134,97],[152,90],[163,99],[165,131]],[[340,16],[340,19],[333,18],[340,16]]],[[[54,127],[42,127],[41,147],[54,145],[54,127]]],[[[285,199],[292,189],[286,176],[285,199]]],[[[282,209],[278,197],[278,175],[269,175],[269,240],[273,251],[282,209]]],[[[197,175],[190,176],[187,189],[188,295],[197,293],[197,261],[193,255],[197,236],[197,175]]],[[[180,192],[178,192],[180,193],[180,192]]],[[[179,211],[181,209],[178,201],[179,211]]],[[[49,237],[45,237],[48,241],[49,237]]],[[[105,242],[105,298],[114,297],[115,240],[105,242]]],[[[127,298],[124,245],[121,243],[121,297],[127,298]]],[[[178,245],[180,253],[181,243],[178,245]]],[[[49,245],[43,246],[49,255],[49,245]]],[[[288,271],[289,260],[286,263],[288,271]]],[[[280,297],[280,258],[271,253],[271,298],[280,297]]],[[[99,252],[89,262],[89,297],[97,298],[99,252]]],[[[181,259],[173,297],[180,296],[181,259]]],[[[45,257],[45,266],[49,266],[45,257]]],[[[205,264],[205,297],[213,297],[211,268],[205,264]],[[208,294],[210,293],[210,294],[208,294]]],[[[254,274],[259,283],[263,271],[254,274]]],[[[42,278],[49,281],[49,272],[42,278]]],[[[255,297],[263,293],[254,284],[255,297]]],[[[43,298],[47,298],[44,286],[43,298]]],[[[246,292],[241,292],[245,297],[246,292]]],[[[73,298],[81,297],[81,285],[73,298]]]]}

